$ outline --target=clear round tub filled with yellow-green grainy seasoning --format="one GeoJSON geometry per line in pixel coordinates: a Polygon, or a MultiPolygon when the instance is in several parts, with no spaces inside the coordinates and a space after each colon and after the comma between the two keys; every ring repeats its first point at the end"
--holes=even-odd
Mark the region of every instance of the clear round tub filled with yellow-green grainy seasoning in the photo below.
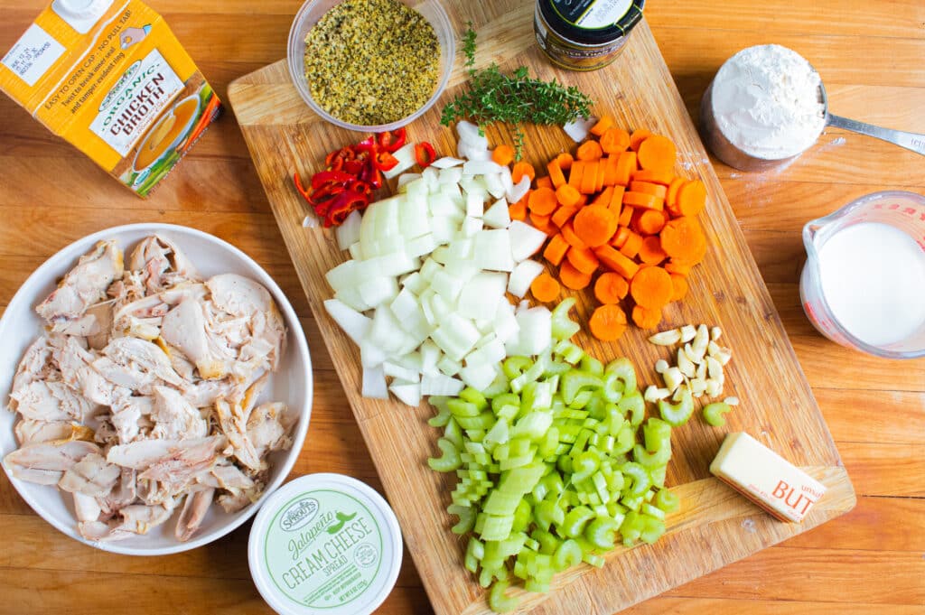
{"type": "Polygon", "coordinates": [[[437,0],[309,0],[289,37],[302,99],[345,129],[397,129],[446,88],[455,43],[437,0]]]}

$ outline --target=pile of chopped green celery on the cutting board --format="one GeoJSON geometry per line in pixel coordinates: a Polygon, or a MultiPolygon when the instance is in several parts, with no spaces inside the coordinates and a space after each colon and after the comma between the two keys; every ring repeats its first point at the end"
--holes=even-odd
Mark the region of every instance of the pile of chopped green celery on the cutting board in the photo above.
{"type": "Polygon", "coordinates": [[[678,505],[663,485],[684,400],[646,420],[632,363],[605,367],[569,341],[573,304],[553,312],[546,351],[508,357],[485,390],[431,398],[443,437],[428,464],[456,471],[452,531],[471,533],[463,563],[496,611],[515,608],[516,579],[547,591],[556,572],[602,566],[617,540],[657,540],[678,505]]]}

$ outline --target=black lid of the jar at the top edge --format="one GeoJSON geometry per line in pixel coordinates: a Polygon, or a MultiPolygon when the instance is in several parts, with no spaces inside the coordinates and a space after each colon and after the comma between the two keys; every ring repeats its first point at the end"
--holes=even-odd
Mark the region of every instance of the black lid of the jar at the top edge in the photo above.
{"type": "Polygon", "coordinates": [[[642,8],[646,0],[538,0],[537,4],[543,19],[561,37],[573,43],[598,45],[611,43],[633,30],[642,19],[642,8]],[[587,28],[579,25],[589,10],[604,3],[618,6],[625,4],[626,10],[613,22],[603,26],[587,28]]]}

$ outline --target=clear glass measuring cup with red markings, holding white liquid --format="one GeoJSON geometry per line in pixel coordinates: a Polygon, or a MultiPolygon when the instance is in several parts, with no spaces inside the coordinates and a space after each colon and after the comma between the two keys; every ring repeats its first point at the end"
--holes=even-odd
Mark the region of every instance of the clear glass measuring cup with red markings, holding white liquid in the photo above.
{"type": "Polygon", "coordinates": [[[925,197],[875,192],[809,222],[803,240],[800,299],[822,334],[877,356],[925,356],[925,197]]]}

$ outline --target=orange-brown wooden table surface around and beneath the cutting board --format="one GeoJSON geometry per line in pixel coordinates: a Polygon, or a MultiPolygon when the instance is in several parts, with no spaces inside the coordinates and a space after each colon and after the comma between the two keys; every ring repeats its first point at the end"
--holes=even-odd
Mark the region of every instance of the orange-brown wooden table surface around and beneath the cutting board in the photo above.
{"type": "MultiPolygon", "coordinates": [[[[225,100],[231,80],[285,56],[300,6],[151,4],[225,100]]],[[[925,4],[811,5],[650,0],[646,15],[692,112],[725,58],[748,45],[780,43],[820,71],[834,113],[925,133],[925,4]]],[[[42,6],[0,0],[0,55],[42,6]]],[[[713,162],[852,478],[857,507],[626,612],[925,614],[925,360],[878,360],[833,344],[808,323],[798,294],[802,226],[871,191],[925,193],[925,158],[829,129],[807,154],[774,172],[747,174],[713,162]]],[[[350,474],[381,490],[233,114],[142,201],[0,96],[0,211],[0,306],[48,256],[119,224],[188,225],[249,253],[290,297],[313,353],[312,424],[293,475],[350,474]]],[[[44,523],[0,474],[0,613],[120,613],[129,604],[139,614],[270,612],[247,569],[249,527],[174,556],[107,554],[44,523]]],[[[377,612],[431,612],[407,553],[377,612]]]]}

